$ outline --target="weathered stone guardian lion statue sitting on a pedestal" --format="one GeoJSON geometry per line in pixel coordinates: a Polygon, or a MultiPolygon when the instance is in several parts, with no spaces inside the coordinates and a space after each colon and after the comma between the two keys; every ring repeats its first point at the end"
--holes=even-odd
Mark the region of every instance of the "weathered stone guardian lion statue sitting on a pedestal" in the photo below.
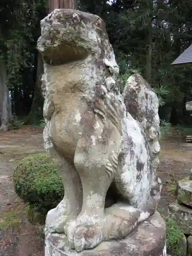
{"type": "Polygon", "coordinates": [[[119,68],[96,15],[54,10],[41,21],[37,49],[44,58],[45,148],[65,187],[48,212],[47,232],[65,234],[76,251],[125,238],[159,200],[158,98],[139,74],[120,94],[119,68]]]}

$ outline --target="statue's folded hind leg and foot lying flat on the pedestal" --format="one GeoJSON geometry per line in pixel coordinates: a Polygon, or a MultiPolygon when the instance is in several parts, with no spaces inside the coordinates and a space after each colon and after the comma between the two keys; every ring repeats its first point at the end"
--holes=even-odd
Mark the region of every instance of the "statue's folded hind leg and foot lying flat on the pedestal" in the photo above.
{"type": "MultiPolygon", "coordinates": [[[[127,200],[118,202],[105,209],[105,219],[103,224],[103,240],[125,238],[140,223],[152,216],[156,211],[161,192],[161,180],[154,177],[154,182],[147,201],[137,205],[137,202],[127,200]]],[[[134,191],[129,190],[124,196],[129,199],[129,194],[134,191]]],[[[130,198],[131,199],[131,198],[130,198]]],[[[133,200],[133,198],[132,198],[133,200]]]]}

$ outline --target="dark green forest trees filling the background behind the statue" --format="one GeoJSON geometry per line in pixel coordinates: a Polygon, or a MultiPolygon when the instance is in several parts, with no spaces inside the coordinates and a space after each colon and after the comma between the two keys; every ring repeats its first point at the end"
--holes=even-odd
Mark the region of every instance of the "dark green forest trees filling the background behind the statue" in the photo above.
{"type": "MultiPolygon", "coordinates": [[[[185,102],[192,96],[192,66],[170,65],[191,44],[191,0],[78,2],[80,10],[97,14],[106,23],[120,67],[121,90],[130,70],[138,70],[158,95],[160,118],[172,124],[191,123],[185,102]]],[[[12,109],[17,116],[30,113],[33,124],[42,117],[42,102],[35,109],[33,98],[36,41],[47,6],[47,0],[0,3],[0,55],[7,64],[12,109]],[[31,106],[35,111],[30,112],[31,106]]]]}

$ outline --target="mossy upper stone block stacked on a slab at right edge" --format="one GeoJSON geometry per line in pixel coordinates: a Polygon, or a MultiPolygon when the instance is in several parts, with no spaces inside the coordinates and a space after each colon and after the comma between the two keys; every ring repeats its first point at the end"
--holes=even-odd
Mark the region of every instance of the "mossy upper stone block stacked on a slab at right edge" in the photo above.
{"type": "Polygon", "coordinates": [[[192,180],[178,182],[178,202],[192,206],[192,180]]]}

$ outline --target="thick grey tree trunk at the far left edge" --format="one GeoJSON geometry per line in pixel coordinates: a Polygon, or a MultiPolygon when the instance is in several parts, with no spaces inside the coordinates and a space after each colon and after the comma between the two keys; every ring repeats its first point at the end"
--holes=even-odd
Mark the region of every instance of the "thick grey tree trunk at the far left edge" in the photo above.
{"type": "Polygon", "coordinates": [[[7,131],[11,123],[12,111],[7,87],[7,70],[3,60],[0,61],[0,131],[7,131]]]}

